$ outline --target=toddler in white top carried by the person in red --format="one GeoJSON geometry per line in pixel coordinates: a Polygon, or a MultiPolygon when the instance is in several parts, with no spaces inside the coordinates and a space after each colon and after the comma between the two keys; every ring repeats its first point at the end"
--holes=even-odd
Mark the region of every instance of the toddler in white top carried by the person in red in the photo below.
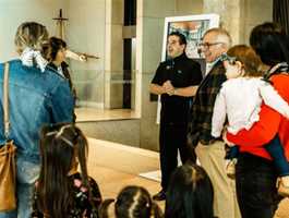
{"type": "MultiPolygon", "coordinates": [[[[231,134],[237,134],[242,129],[249,130],[260,119],[262,101],[289,119],[288,104],[262,77],[263,64],[252,48],[244,45],[234,46],[222,56],[222,61],[228,81],[222,84],[215,101],[212,120],[214,137],[221,136],[226,121],[228,121],[227,131],[231,134]]],[[[230,160],[227,173],[233,177],[238,147],[229,146],[226,156],[226,159],[230,160]]],[[[289,185],[289,164],[285,158],[279,137],[276,136],[266,149],[273,159],[278,158],[278,161],[275,161],[278,173],[282,183],[289,185]]]]}

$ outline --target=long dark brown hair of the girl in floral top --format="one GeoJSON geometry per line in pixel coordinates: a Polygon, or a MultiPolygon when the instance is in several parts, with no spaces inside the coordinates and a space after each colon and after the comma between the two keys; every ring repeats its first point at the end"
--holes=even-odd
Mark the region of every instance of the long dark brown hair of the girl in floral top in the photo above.
{"type": "Polygon", "coordinates": [[[73,208],[72,183],[69,172],[76,159],[83,184],[88,189],[86,156],[87,141],[82,131],[71,123],[47,125],[40,136],[40,175],[36,186],[38,208],[52,218],[63,218],[73,208]]]}

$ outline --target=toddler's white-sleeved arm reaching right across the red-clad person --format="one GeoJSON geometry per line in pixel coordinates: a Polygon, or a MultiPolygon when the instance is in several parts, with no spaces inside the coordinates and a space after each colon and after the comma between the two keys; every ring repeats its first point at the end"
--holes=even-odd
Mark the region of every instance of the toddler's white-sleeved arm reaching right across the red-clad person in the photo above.
{"type": "Polygon", "coordinates": [[[289,119],[289,105],[282,97],[277,93],[277,90],[264,82],[264,84],[260,87],[260,94],[264,104],[289,119]]]}

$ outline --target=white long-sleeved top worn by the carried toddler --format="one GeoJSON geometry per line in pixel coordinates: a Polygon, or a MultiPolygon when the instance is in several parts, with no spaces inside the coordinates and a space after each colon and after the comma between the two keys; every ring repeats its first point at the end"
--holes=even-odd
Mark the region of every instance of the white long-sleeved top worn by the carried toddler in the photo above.
{"type": "MultiPolygon", "coordinates": [[[[228,132],[237,134],[258,121],[261,104],[289,118],[289,106],[274,87],[261,77],[230,78],[217,95],[212,118],[212,135],[219,137],[228,118],[228,132]]],[[[269,124],[269,123],[268,123],[269,124]]]]}

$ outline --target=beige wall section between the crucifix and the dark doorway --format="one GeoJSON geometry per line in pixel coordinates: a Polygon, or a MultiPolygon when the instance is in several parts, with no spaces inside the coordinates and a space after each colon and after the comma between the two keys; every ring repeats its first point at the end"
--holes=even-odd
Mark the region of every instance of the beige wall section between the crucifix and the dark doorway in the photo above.
{"type": "Polygon", "coordinates": [[[83,106],[104,107],[106,44],[106,1],[68,0],[67,40],[76,51],[100,57],[82,63],[71,61],[72,78],[83,106]]]}

